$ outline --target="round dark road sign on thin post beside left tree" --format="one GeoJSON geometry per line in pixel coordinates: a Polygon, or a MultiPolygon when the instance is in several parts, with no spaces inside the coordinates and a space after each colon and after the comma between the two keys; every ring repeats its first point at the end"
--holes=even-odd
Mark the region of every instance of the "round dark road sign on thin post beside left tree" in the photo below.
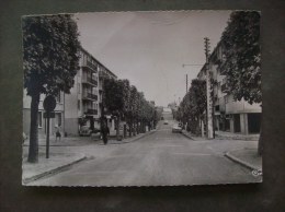
{"type": "Polygon", "coordinates": [[[54,96],[48,95],[44,99],[44,108],[46,113],[44,114],[44,118],[47,119],[47,129],[46,129],[46,158],[49,157],[49,119],[55,118],[54,109],[56,108],[56,99],[54,96]]]}

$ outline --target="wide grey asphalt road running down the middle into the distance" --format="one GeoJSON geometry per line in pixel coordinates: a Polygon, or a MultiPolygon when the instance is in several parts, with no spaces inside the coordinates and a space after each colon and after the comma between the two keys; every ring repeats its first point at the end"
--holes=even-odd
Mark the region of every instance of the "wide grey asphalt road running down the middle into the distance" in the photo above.
{"type": "Polygon", "coordinates": [[[69,170],[36,180],[42,186],[171,186],[260,181],[251,172],[224,156],[240,141],[194,141],[172,133],[173,120],[161,121],[158,130],[133,143],[94,145],[94,158],[69,170]]]}

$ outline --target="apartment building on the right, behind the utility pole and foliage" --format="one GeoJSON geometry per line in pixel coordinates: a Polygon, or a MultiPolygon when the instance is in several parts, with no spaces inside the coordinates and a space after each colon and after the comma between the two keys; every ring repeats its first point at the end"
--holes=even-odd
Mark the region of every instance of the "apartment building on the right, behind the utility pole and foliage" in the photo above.
{"type": "MultiPolygon", "coordinates": [[[[223,54],[223,44],[217,47],[209,56],[209,75],[214,80],[213,105],[214,105],[214,127],[215,130],[230,131],[235,133],[259,133],[261,126],[261,105],[249,104],[244,99],[235,101],[232,94],[227,91],[227,75],[223,69],[226,61],[223,54]],[[218,66],[220,68],[218,68],[218,66]]],[[[206,79],[206,66],[200,71],[198,79],[206,79]]]]}

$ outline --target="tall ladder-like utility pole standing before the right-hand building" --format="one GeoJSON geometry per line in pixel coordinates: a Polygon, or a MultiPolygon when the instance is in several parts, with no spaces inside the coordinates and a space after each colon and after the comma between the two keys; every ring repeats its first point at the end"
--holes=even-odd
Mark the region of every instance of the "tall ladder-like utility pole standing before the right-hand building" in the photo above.
{"type": "Polygon", "coordinates": [[[210,95],[210,73],[209,73],[209,38],[205,37],[204,38],[205,43],[205,55],[206,55],[206,94],[207,94],[207,137],[208,139],[214,138],[214,128],[213,128],[213,99],[210,95]]]}

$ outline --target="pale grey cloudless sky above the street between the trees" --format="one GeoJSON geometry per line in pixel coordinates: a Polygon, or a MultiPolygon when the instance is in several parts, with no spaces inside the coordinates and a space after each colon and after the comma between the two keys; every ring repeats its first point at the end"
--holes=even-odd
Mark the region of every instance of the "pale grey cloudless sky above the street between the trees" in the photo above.
{"type": "Polygon", "coordinates": [[[157,106],[183,98],[227,26],[230,11],[78,13],[82,47],[157,106]],[[200,64],[200,66],[183,66],[200,64]]]}

